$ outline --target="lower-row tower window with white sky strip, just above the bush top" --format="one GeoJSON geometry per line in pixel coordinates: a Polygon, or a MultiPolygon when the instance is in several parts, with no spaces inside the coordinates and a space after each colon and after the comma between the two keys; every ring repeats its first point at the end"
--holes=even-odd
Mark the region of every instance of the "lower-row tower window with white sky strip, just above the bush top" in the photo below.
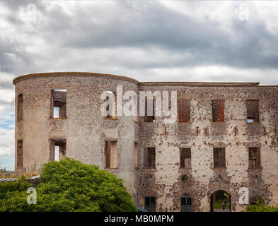
{"type": "Polygon", "coordinates": [[[66,157],[66,140],[51,140],[50,161],[59,161],[66,157]]]}

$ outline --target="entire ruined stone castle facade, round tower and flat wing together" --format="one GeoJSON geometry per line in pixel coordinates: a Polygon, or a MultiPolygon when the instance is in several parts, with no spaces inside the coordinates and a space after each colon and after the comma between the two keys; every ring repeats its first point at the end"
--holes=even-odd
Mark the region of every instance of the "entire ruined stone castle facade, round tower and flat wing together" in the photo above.
{"type": "Polygon", "coordinates": [[[60,159],[74,157],[108,169],[124,179],[135,203],[156,211],[180,211],[181,197],[191,198],[183,202],[192,202],[193,211],[209,211],[218,190],[231,196],[232,211],[241,211],[242,187],[248,188],[250,201],[278,203],[277,86],[140,83],[99,73],[37,73],[13,83],[17,171],[40,169],[54,160],[53,145],[58,145],[60,159]],[[123,93],[177,91],[177,121],[103,117],[100,95],[115,92],[117,85],[123,93]],[[59,99],[53,90],[66,90],[57,104],[63,117],[53,117],[59,99]],[[110,153],[116,156],[113,167],[106,164],[110,153]]]}

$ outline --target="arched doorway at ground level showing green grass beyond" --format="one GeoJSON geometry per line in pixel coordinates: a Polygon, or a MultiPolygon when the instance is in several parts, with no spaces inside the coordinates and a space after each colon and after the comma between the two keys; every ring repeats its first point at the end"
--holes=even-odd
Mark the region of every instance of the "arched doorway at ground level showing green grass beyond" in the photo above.
{"type": "Polygon", "coordinates": [[[210,197],[211,212],[231,212],[231,195],[224,190],[214,191],[210,197]],[[226,203],[224,206],[222,203],[226,203]]]}

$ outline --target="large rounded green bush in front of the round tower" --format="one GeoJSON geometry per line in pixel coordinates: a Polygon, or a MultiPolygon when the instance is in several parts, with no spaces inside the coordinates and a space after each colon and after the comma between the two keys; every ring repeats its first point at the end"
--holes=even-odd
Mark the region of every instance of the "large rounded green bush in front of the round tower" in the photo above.
{"type": "MultiPolygon", "coordinates": [[[[8,182],[13,183],[13,182],[8,182]]],[[[137,211],[122,179],[95,165],[66,158],[44,165],[37,204],[28,205],[25,184],[0,199],[1,211],[137,211]]]]}

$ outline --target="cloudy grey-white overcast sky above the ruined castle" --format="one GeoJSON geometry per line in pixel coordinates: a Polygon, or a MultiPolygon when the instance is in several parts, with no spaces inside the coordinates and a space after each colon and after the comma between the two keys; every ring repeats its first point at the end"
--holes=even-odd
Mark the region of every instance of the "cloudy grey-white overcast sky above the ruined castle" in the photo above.
{"type": "Polygon", "coordinates": [[[278,85],[277,12],[277,1],[1,1],[0,167],[14,167],[16,76],[278,85]]]}

